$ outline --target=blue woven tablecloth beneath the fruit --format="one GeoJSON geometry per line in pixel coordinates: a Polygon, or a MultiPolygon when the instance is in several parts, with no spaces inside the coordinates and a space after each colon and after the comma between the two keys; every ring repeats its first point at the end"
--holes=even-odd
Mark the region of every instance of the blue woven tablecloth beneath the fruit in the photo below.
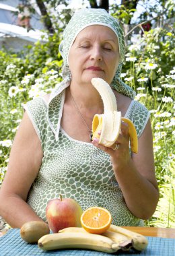
{"type": "Polygon", "coordinates": [[[145,251],[137,253],[131,251],[129,253],[101,253],[98,251],[90,250],[57,250],[57,251],[42,251],[38,248],[38,245],[31,245],[22,240],[20,236],[20,229],[13,228],[7,232],[4,236],[0,237],[0,255],[1,256],[27,256],[27,255],[63,255],[63,256],[109,256],[109,255],[121,255],[121,256],[175,256],[175,239],[173,238],[159,238],[147,236],[148,246],[145,251]]]}

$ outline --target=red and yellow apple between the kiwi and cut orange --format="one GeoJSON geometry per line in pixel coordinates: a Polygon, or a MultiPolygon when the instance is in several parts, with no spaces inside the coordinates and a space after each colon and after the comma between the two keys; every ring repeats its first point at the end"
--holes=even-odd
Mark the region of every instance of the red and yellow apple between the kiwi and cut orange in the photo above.
{"type": "Polygon", "coordinates": [[[46,206],[46,219],[52,232],[57,233],[69,226],[81,227],[80,217],[82,210],[80,205],[71,198],[52,199],[46,206]]]}

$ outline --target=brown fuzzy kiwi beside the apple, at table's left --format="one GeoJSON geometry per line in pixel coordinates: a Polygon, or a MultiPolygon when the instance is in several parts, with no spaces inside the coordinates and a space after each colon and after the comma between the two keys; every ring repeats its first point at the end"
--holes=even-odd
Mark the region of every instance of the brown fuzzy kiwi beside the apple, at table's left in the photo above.
{"type": "Polygon", "coordinates": [[[48,228],[48,224],[42,221],[26,222],[20,228],[22,239],[28,243],[38,243],[39,238],[49,233],[50,229],[48,228]]]}

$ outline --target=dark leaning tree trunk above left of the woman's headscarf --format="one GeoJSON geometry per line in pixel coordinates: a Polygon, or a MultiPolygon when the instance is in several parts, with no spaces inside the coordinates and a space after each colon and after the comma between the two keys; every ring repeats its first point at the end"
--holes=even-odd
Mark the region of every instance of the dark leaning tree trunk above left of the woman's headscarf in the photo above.
{"type": "Polygon", "coordinates": [[[46,6],[44,5],[44,1],[36,0],[36,4],[38,5],[40,12],[42,14],[44,25],[46,26],[46,28],[50,33],[54,33],[55,30],[52,27],[52,21],[50,20],[50,17],[47,13],[46,6]]]}

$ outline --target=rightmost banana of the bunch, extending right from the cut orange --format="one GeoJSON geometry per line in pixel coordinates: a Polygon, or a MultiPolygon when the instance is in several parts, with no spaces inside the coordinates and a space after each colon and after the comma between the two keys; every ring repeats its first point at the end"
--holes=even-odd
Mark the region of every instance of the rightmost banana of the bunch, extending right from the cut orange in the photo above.
{"type": "Polygon", "coordinates": [[[126,228],[121,228],[119,226],[110,225],[110,228],[108,229],[110,232],[116,232],[117,234],[122,234],[127,236],[128,238],[131,238],[133,248],[135,248],[137,251],[142,251],[147,247],[148,241],[145,236],[142,234],[139,234],[137,232],[133,232],[131,230],[127,230],[126,228]]]}

